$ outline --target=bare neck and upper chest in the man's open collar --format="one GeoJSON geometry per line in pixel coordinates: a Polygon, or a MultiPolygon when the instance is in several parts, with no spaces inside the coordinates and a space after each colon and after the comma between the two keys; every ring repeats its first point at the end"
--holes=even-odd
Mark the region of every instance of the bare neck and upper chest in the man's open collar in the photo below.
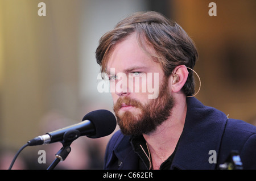
{"type": "Polygon", "coordinates": [[[150,149],[154,169],[159,169],[160,165],[174,152],[183,131],[186,113],[187,102],[184,97],[176,103],[171,116],[154,132],[143,134],[150,149]]]}

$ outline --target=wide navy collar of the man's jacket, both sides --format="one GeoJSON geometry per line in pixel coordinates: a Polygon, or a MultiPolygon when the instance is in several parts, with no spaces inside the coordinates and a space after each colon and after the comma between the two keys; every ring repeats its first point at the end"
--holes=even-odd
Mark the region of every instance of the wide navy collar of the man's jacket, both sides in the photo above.
{"type": "MultiPolygon", "coordinates": [[[[171,169],[214,169],[216,164],[209,163],[209,151],[215,150],[218,154],[226,115],[204,106],[196,98],[187,98],[187,106],[183,133],[171,169]]],[[[122,162],[119,169],[138,169],[138,155],[131,147],[129,138],[122,136],[114,148],[115,156],[122,162]],[[124,164],[126,162],[129,164],[124,164]]]]}

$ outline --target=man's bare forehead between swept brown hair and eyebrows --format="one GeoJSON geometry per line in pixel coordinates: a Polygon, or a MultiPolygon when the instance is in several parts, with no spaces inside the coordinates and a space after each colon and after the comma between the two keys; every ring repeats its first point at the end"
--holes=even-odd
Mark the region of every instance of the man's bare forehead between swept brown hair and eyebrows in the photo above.
{"type": "MultiPolygon", "coordinates": [[[[148,49],[152,52],[152,48],[147,47],[148,49]]],[[[107,73],[110,72],[111,68],[122,72],[135,68],[136,70],[151,71],[152,69],[160,68],[160,64],[153,61],[152,57],[141,48],[134,33],[115,45],[106,63],[107,73]]]]}

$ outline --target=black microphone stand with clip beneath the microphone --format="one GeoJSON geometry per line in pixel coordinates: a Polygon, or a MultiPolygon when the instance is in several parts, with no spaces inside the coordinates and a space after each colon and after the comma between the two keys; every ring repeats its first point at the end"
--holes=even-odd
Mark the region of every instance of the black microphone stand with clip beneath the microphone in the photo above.
{"type": "Polygon", "coordinates": [[[64,161],[68,157],[68,154],[71,152],[70,145],[74,140],[79,138],[79,136],[80,132],[76,129],[65,132],[63,136],[63,141],[61,141],[63,147],[55,154],[56,158],[47,170],[53,170],[59,162],[64,161]]]}

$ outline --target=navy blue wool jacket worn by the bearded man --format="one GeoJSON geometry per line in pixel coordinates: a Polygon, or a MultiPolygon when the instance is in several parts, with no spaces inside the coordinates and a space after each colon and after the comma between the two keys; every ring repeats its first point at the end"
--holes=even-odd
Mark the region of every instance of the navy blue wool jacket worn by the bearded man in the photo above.
{"type": "MultiPolygon", "coordinates": [[[[232,150],[240,153],[243,169],[256,169],[256,127],[241,120],[228,119],[225,113],[187,98],[187,115],[179,145],[170,169],[218,169],[232,150]],[[217,153],[217,163],[209,157],[217,153]]],[[[105,152],[104,169],[138,169],[139,156],[130,136],[114,133],[105,152]]]]}

